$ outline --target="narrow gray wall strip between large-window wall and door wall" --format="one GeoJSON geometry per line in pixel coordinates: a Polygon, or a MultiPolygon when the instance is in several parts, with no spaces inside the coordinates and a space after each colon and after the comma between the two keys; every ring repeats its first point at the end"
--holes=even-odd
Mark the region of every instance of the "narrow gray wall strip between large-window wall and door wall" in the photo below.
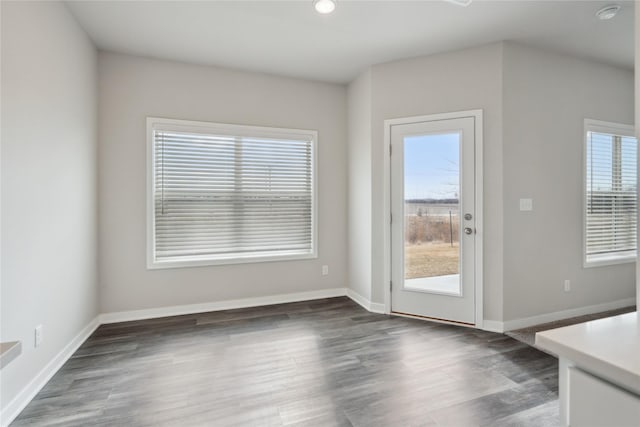
{"type": "Polygon", "coordinates": [[[349,288],[371,300],[371,70],[349,85],[349,288]]]}

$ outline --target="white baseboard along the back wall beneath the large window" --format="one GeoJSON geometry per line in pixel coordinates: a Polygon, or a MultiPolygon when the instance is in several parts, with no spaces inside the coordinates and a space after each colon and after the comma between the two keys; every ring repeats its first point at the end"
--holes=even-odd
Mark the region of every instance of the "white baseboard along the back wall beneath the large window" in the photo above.
{"type": "Polygon", "coordinates": [[[174,305],[169,307],[149,308],[145,310],[118,311],[100,315],[100,323],[118,323],[131,320],[154,319],[158,317],[179,316],[182,314],[206,313],[208,311],[233,310],[236,308],[259,307],[263,305],[285,304],[288,302],[310,301],[314,299],[343,297],[346,288],[331,288],[318,291],[296,292],[267,297],[243,298],[202,304],[174,305]]]}

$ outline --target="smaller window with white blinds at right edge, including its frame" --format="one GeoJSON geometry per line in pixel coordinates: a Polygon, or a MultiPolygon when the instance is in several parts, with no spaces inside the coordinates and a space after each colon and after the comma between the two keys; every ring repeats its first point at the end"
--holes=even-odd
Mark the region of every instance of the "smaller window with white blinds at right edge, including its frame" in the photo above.
{"type": "Polygon", "coordinates": [[[585,120],[585,265],[635,260],[637,152],[633,128],[585,120]]]}

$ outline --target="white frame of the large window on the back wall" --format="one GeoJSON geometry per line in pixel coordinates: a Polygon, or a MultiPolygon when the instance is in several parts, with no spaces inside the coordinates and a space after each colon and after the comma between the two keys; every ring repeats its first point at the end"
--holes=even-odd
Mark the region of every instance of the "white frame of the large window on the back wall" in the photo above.
{"type": "Polygon", "coordinates": [[[147,117],[147,269],[167,269],[216,266],[230,264],[252,264],[274,261],[296,261],[318,258],[318,183],[317,183],[317,151],[318,131],[305,129],[274,128],[263,126],[237,125],[227,123],[214,123],[193,120],[167,119],[160,117],[147,117]],[[282,139],[310,139],[311,140],[311,252],[304,254],[274,254],[274,255],[218,255],[210,258],[197,257],[198,259],[161,260],[155,256],[155,144],[154,131],[182,131],[182,132],[210,132],[240,137],[262,137],[282,139]]]}

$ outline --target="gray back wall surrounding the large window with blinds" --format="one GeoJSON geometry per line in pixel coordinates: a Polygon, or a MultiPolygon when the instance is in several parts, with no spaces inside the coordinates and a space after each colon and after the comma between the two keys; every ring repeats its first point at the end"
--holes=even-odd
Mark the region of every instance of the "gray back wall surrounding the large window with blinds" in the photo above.
{"type": "Polygon", "coordinates": [[[345,86],[101,53],[99,111],[103,312],[346,286],[345,86]],[[318,130],[319,257],[147,270],[147,116],[318,130]]]}

